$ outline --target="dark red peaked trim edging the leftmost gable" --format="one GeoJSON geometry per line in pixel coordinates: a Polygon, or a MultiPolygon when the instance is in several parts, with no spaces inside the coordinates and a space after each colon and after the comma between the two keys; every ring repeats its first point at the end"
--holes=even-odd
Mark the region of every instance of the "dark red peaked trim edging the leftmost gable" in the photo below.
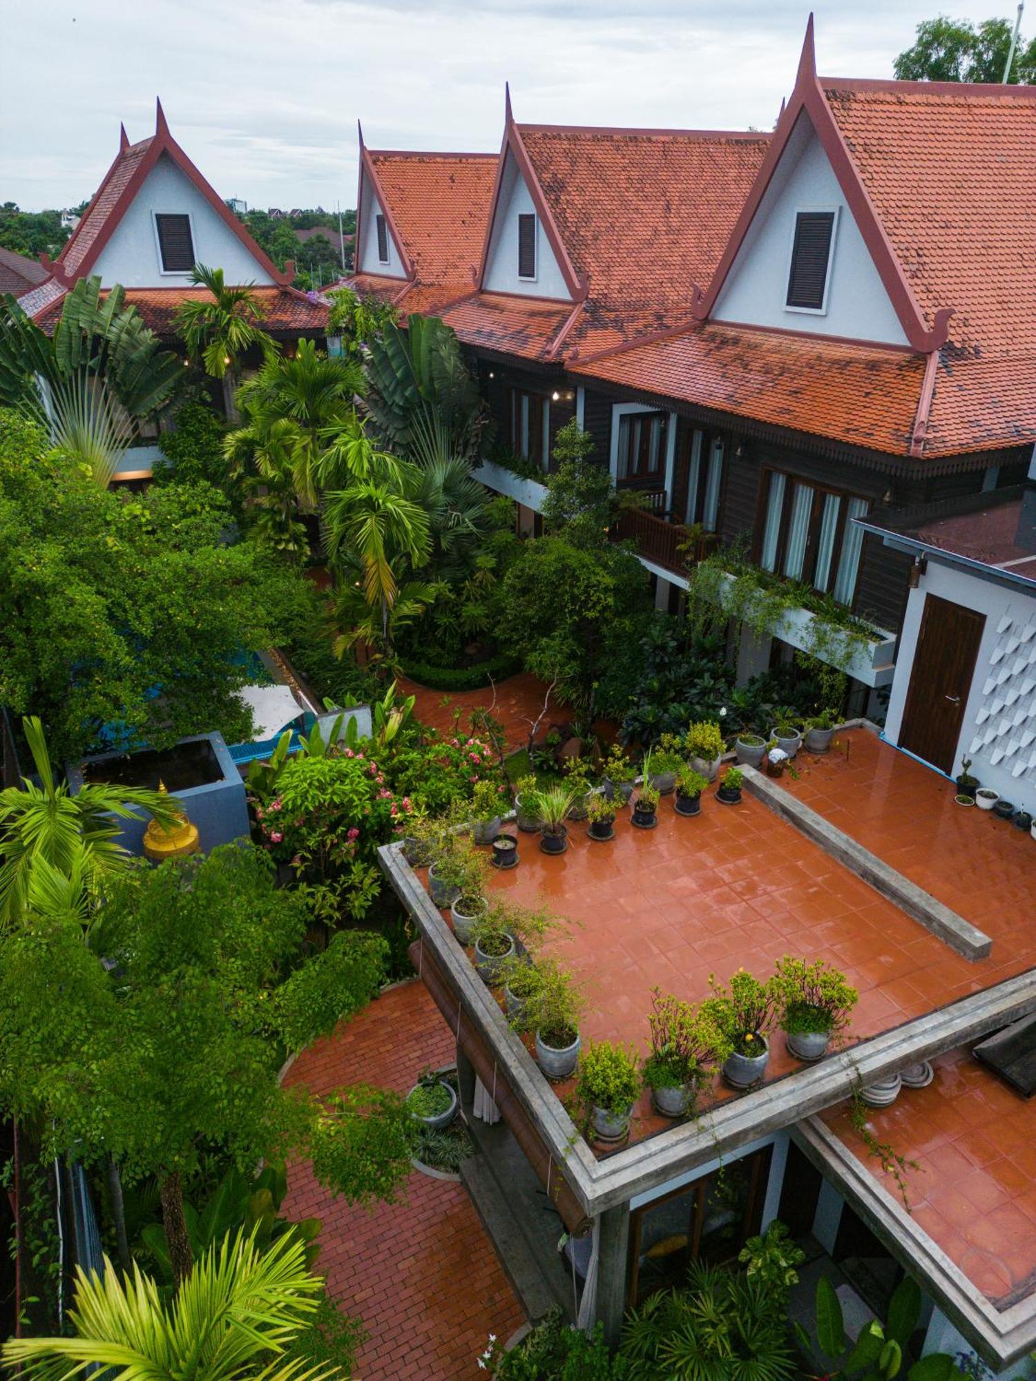
{"type": "MultiPolygon", "coordinates": [[[[140,144],[130,144],[126,128],[122,127],[119,153],[70,239],[54,262],[41,255],[44,268],[54,275],[54,279],[64,287],[70,287],[77,279],[91,275],[105,247],[163,156],[186,178],[222,225],[240,242],[269,282],[280,286],[289,284],[294,276],[294,265],[289,264],[283,271],[276,268],[253,240],[244,225],[170,134],[160,101],[156,102],[155,134],[140,144]]],[[[213,267],[218,268],[220,265],[213,267]]]]}

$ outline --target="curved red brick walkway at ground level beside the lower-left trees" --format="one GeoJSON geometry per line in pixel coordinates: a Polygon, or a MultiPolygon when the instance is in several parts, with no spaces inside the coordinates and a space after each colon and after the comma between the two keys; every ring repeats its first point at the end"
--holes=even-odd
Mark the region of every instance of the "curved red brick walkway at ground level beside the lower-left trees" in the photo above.
{"type": "MultiPolygon", "coordinates": [[[[369,1081],[405,1092],[425,1065],[453,1059],[453,1041],[421,982],[390,989],[334,1036],[298,1056],[287,1084],[316,1094],[369,1081]]],[[[372,1211],[291,1167],[285,1213],[320,1218],[318,1268],[369,1338],[356,1381],[446,1381],[481,1375],[486,1337],[503,1342],[525,1320],[463,1185],[414,1171],[403,1200],[372,1211]]]]}

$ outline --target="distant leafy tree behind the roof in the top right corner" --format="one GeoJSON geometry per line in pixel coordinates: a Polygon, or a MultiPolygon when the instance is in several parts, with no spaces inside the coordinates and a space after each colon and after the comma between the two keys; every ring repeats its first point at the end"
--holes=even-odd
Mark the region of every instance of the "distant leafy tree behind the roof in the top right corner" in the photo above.
{"type": "MultiPolygon", "coordinates": [[[[993,81],[1004,80],[1014,23],[984,19],[975,28],[970,19],[941,14],[917,25],[913,47],[892,64],[901,81],[993,81]]],[[[1036,81],[1036,39],[1018,37],[1008,81],[1036,81]]]]}

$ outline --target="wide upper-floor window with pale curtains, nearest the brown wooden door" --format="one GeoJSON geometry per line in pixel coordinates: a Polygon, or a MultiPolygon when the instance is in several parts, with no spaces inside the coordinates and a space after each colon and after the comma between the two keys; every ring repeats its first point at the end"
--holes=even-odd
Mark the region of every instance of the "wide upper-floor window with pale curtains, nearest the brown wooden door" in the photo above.
{"type": "Polygon", "coordinates": [[[863,547],[863,533],[852,519],[869,508],[867,499],[807,485],[772,470],[767,474],[758,563],[851,605],[863,547]]]}

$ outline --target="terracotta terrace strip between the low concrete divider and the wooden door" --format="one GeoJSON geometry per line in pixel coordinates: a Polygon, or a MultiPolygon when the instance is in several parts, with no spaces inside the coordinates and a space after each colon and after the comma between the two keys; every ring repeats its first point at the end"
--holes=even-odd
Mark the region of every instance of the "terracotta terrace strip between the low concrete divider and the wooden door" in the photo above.
{"type": "Polygon", "coordinates": [[[992,958],[1025,945],[1036,907],[1036,842],[975,807],[953,782],[867,729],[829,754],[800,754],[780,784],[903,877],[993,938],[992,958]],[[997,943],[999,942],[999,943],[997,943]]]}

